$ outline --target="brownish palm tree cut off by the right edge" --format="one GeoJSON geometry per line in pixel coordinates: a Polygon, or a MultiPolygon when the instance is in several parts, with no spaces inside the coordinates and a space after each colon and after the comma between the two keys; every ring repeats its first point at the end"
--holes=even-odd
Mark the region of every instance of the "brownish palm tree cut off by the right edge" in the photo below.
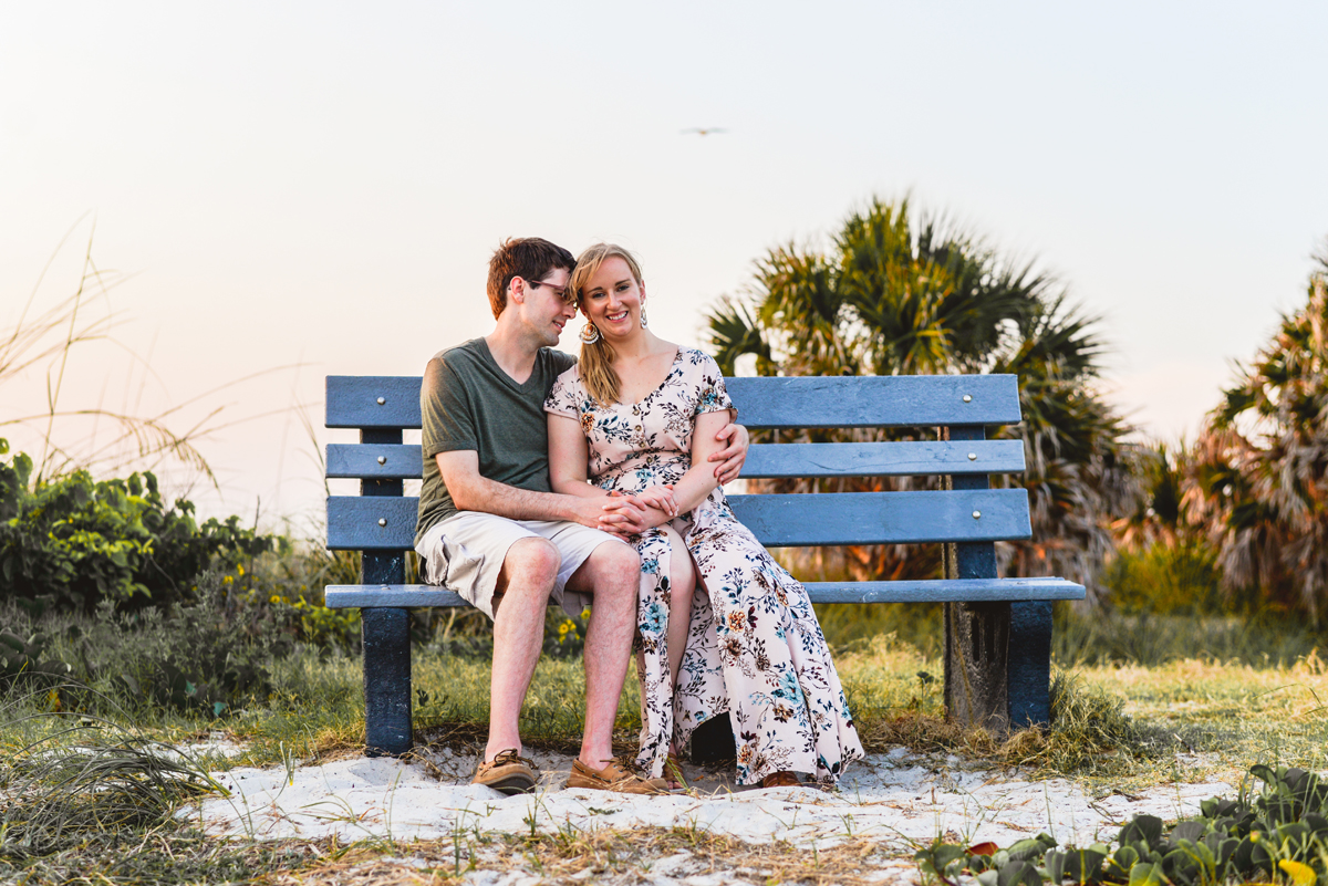
{"type": "Polygon", "coordinates": [[[1185,504],[1218,549],[1228,602],[1317,623],[1328,609],[1328,240],[1308,298],[1208,414],[1185,504]]]}

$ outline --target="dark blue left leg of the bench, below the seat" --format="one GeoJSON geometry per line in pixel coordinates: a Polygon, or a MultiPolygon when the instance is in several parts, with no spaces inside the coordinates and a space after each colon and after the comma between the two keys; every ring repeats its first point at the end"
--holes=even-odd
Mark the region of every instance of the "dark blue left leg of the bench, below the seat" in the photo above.
{"type": "Polygon", "coordinates": [[[410,613],[361,609],[364,638],[364,752],[400,756],[410,733],[410,613]]]}

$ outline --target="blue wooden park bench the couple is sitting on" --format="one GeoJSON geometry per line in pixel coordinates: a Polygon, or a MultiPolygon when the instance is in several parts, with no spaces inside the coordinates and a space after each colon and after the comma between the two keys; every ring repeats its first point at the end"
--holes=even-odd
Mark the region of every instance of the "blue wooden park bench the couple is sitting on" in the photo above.
{"type": "MultiPolygon", "coordinates": [[[[328,499],[328,548],[361,550],[360,585],[327,588],[331,607],[357,606],[364,631],[365,743],[371,755],[412,747],[408,610],[463,606],[457,594],[405,585],[421,476],[420,378],[327,379],[327,426],[357,428],[360,443],[327,448],[327,476],[360,480],[359,496],[328,499]]],[[[1061,578],[999,578],[996,541],[1032,537],[1028,493],[992,489],[993,474],[1024,470],[1020,440],[985,430],[1020,420],[1013,375],[730,378],[749,428],[939,428],[939,439],[891,443],[753,446],[742,476],[946,477],[943,491],[734,495],[734,513],[762,544],[778,546],[944,544],[944,578],[809,582],[823,603],[946,603],[946,704],[951,718],[996,733],[1050,716],[1052,602],[1082,600],[1061,578]]]]}

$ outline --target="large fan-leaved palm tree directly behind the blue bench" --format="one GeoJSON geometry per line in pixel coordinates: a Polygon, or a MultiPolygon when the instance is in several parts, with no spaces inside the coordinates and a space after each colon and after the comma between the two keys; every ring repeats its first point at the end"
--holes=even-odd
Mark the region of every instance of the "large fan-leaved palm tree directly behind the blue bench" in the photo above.
{"type": "MultiPolygon", "coordinates": [[[[749,289],[709,314],[725,373],[754,354],[762,375],[1016,373],[1028,471],[1001,481],[1029,491],[1036,542],[1003,545],[1005,574],[1064,574],[1094,586],[1113,549],[1110,524],[1139,499],[1122,442],[1129,427],[1096,393],[1104,342],[1096,317],[1070,305],[1033,263],[1001,259],[908,200],[872,199],[830,248],[788,244],[757,260],[749,289]]],[[[924,431],[802,432],[801,439],[916,439],[924,431]]],[[[773,481],[782,491],[936,488],[939,477],[773,481]]],[[[854,548],[855,578],[934,577],[926,546],[854,548]]]]}

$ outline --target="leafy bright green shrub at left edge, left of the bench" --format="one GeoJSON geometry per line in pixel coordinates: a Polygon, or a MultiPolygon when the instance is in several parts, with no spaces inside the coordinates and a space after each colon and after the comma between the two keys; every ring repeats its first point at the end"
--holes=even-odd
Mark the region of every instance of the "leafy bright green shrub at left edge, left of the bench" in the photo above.
{"type": "Polygon", "coordinates": [[[11,598],[82,610],[102,601],[161,606],[186,598],[214,561],[232,566],[282,544],[239,517],[198,525],[194,505],[167,505],[150,472],[98,481],[74,471],[33,488],[31,476],[27,455],[0,460],[0,580],[11,598]]]}

